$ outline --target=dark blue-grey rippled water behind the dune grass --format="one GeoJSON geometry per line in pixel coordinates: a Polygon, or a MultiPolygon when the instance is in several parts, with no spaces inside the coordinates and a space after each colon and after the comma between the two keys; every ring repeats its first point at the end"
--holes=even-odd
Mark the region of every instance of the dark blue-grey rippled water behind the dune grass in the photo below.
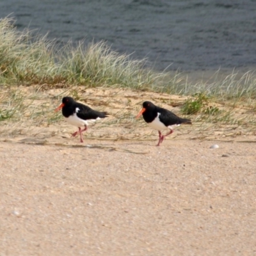
{"type": "Polygon", "coordinates": [[[0,17],[10,13],[20,30],[104,40],[156,70],[256,67],[256,0],[1,0],[0,17]]]}

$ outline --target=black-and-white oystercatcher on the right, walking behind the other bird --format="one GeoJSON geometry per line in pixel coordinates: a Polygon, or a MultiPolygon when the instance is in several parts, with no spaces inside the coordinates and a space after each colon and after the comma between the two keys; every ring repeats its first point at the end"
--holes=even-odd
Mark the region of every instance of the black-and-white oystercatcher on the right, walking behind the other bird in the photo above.
{"type": "Polygon", "coordinates": [[[167,109],[157,107],[150,101],[143,102],[142,106],[143,108],[136,118],[143,115],[145,122],[147,122],[151,128],[158,131],[159,141],[157,146],[163,142],[166,136],[173,133],[175,127],[180,126],[181,124],[192,124],[191,120],[180,118],[167,109]],[[161,130],[164,129],[170,129],[170,131],[166,135],[162,135],[161,130]]]}

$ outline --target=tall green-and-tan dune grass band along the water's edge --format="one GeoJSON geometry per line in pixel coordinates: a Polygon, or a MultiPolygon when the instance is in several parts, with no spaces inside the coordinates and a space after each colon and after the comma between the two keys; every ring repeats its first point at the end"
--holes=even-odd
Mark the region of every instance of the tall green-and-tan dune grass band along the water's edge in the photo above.
{"type": "Polygon", "coordinates": [[[239,79],[233,73],[223,81],[191,84],[178,72],[174,76],[155,72],[146,68],[146,63],[147,60],[132,60],[127,54],[112,51],[105,42],[60,47],[47,36],[33,36],[28,29],[17,31],[10,18],[0,19],[1,84],[77,84],[179,95],[204,92],[219,98],[256,97],[253,72],[239,79]]]}

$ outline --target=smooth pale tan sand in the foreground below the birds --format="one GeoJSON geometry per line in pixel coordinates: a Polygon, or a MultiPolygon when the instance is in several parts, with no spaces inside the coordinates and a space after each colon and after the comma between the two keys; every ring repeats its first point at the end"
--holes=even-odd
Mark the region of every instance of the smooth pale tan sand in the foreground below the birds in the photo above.
{"type": "Polygon", "coordinates": [[[171,137],[1,141],[0,255],[256,255],[255,138],[171,137]]]}

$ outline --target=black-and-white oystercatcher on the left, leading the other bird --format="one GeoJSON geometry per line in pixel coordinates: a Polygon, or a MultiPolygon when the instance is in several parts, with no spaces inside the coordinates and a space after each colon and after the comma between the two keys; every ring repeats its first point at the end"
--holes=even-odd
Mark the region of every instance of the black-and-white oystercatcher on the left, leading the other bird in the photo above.
{"type": "Polygon", "coordinates": [[[78,127],[79,131],[74,132],[72,137],[79,133],[81,142],[83,142],[82,132],[87,130],[88,124],[108,116],[107,112],[95,111],[84,104],[76,102],[72,97],[64,97],[55,111],[60,109],[62,109],[62,115],[65,116],[67,122],[78,127]],[[82,130],[81,127],[84,127],[84,129],[82,130]]]}

